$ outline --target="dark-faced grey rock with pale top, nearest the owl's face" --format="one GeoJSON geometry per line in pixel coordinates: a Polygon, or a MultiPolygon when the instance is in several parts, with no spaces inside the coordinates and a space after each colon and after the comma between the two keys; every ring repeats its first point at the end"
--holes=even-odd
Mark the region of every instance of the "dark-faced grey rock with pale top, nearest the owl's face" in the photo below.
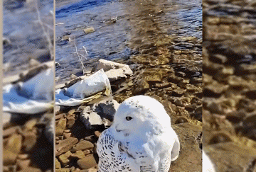
{"type": "Polygon", "coordinates": [[[115,100],[103,100],[95,103],[92,110],[95,111],[100,117],[105,117],[107,120],[114,120],[114,113],[116,113],[119,103],[115,100]]]}

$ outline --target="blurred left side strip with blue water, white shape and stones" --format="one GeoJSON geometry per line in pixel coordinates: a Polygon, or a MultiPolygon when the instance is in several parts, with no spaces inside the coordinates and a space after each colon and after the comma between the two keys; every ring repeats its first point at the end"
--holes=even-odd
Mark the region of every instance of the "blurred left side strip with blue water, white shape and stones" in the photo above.
{"type": "Polygon", "coordinates": [[[53,171],[53,0],[3,1],[3,171],[53,171]]]}

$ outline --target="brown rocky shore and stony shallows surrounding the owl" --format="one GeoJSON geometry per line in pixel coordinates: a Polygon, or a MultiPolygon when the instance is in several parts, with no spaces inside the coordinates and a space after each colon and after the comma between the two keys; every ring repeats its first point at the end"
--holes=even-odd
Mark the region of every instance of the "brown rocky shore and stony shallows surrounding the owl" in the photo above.
{"type": "MultiPolygon", "coordinates": [[[[165,36],[136,47],[138,55],[117,61],[128,64],[133,74],[114,79],[108,76],[112,95],[76,107],[57,106],[56,171],[97,171],[97,138],[111,125],[118,104],[135,95],[156,98],[171,116],[181,153],[170,171],[201,171],[201,43],[193,37],[165,36]],[[188,48],[179,50],[177,46],[188,48]]],[[[98,64],[92,71],[99,69],[98,64]]]]}

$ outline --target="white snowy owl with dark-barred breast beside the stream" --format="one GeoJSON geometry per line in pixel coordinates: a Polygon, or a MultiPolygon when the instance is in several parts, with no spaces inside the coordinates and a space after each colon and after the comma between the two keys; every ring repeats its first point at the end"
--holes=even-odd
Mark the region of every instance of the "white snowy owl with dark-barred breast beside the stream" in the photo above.
{"type": "Polygon", "coordinates": [[[167,172],[180,143],[164,106],[148,96],[127,98],[97,142],[99,172],[167,172]]]}

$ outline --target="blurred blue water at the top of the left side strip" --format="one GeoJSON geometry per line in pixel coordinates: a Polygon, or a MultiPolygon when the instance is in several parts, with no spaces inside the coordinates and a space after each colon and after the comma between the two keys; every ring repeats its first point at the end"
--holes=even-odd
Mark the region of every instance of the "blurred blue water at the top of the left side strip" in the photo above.
{"type": "MultiPolygon", "coordinates": [[[[36,50],[48,48],[48,40],[38,23],[36,4],[33,2],[4,1],[3,37],[10,41],[4,45],[5,76],[27,69],[29,56],[36,50]]],[[[41,21],[48,37],[53,40],[53,0],[38,2],[41,21]]]]}

